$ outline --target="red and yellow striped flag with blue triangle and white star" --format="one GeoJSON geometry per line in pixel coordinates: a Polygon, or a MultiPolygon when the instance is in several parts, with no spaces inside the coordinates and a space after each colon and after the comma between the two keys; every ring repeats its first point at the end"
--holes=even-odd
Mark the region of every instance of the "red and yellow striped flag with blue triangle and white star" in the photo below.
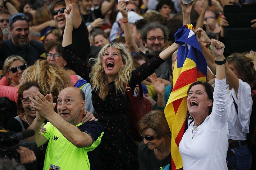
{"type": "Polygon", "coordinates": [[[164,114],[172,132],[172,169],[183,167],[179,144],[184,134],[187,116],[187,91],[195,81],[206,81],[207,64],[196,39],[192,25],[180,27],[175,33],[180,45],[173,70],[173,89],[164,109],[164,114]]]}

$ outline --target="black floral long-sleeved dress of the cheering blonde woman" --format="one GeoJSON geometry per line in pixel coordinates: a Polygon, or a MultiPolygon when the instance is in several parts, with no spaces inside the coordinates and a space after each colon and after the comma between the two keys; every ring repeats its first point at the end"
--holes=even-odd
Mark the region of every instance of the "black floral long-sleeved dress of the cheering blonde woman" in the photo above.
{"type": "MultiPolygon", "coordinates": [[[[72,45],[63,47],[63,58],[68,63],[68,67],[90,82],[91,66],[73,54],[72,45]]],[[[132,91],[139,82],[154,73],[155,68],[164,61],[157,55],[133,70],[129,82],[132,91]]],[[[104,101],[99,97],[99,92],[92,91],[94,115],[104,128],[98,169],[138,169],[138,146],[134,143],[129,127],[129,97],[122,93],[116,93],[114,82],[110,82],[108,87],[108,95],[104,101]]]]}

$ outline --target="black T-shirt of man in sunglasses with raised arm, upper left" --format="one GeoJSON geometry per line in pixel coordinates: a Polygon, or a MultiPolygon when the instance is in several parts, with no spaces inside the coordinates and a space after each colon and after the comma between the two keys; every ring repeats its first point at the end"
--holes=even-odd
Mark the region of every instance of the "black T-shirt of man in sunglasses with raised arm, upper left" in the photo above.
{"type": "MultiPolygon", "coordinates": [[[[63,34],[64,31],[62,32],[62,35],[60,37],[60,42],[63,41],[63,34]]],[[[73,51],[77,56],[80,56],[82,60],[86,60],[88,54],[91,52],[90,51],[90,42],[89,42],[89,33],[87,30],[87,27],[85,27],[84,22],[82,21],[80,26],[76,29],[73,29],[72,32],[72,43],[74,44],[73,46],[73,51]]]]}

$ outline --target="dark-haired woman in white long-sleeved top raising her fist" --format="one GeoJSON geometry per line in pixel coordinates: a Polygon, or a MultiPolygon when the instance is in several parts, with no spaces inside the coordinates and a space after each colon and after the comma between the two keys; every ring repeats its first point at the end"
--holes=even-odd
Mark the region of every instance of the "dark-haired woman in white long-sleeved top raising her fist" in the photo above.
{"type": "Polygon", "coordinates": [[[224,44],[212,39],[215,57],[215,89],[209,83],[197,81],[188,89],[187,106],[193,122],[183,135],[179,151],[183,169],[228,169],[227,94],[224,44]],[[214,102],[213,102],[214,101],[214,102]]]}

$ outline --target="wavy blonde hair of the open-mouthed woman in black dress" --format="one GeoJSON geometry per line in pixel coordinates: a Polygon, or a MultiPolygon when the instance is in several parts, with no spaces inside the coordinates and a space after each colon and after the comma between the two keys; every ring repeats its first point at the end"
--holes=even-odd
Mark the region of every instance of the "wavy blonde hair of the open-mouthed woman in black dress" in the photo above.
{"type": "Polygon", "coordinates": [[[132,70],[134,70],[132,57],[128,51],[128,48],[124,44],[110,43],[106,44],[99,52],[97,58],[90,58],[89,61],[94,61],[95,64],[92,66],[92,72],[90,73],[90,80],[92,84],[92,90],[100,90],[99,95],[101,96],[104,92],[104,87],[108,85],[108,78],[102,66],[102,58],[104,52],[108,47],[114,47],[120,50],[122,61],[124,66],[120,67],[118,73],[114,77],[114,82],[116,86],[116,93],[121,92],[123,95],[124,83],[128,84],[132,75],[132,70]]]}

